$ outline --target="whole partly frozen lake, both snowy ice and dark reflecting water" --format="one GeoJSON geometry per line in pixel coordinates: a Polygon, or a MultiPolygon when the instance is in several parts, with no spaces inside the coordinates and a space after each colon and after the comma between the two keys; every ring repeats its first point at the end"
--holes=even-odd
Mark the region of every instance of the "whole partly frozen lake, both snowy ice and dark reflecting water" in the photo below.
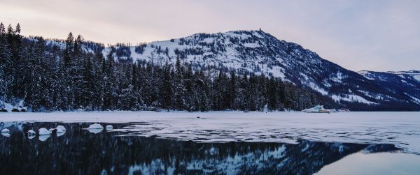
{"type": "Polygon", "coordinates": [[[10,132],[0,137],[0,171],[416,174],[420,171],[419,114],[3,113],[0,128],[10,132]],[[96,128],[94,123],[104,128],[96,128]],[[64,125],[66,131],[41,136],[25,134],[57,125],[64,125]],[[106,125],[113,125],[113,130],[106,130],[106,125]]]}

